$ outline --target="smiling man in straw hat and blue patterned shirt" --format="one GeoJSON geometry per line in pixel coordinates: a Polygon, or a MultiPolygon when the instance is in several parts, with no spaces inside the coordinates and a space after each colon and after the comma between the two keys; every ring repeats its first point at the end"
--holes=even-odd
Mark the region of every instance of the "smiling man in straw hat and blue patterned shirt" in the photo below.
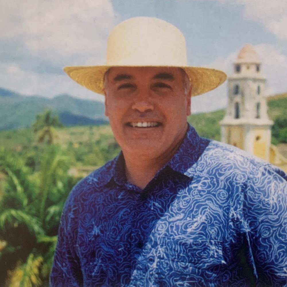
{"type": "Polygon", "coordinates": [[[286,175],[187,124],[223,72],[146,17],[113,29],[107,65],[65,71],[105,95],[122,152],[71,191],[51,286],[287,286],[286,175]]]}

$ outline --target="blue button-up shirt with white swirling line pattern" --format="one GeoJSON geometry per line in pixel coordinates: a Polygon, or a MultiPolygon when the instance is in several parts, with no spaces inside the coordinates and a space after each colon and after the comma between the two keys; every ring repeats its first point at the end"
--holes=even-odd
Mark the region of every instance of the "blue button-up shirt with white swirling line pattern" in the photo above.
{"type": "Polygon", "coordinates": [[[287,286],[286,180],[191,126],[143,190],[120,154],[71,191],[50,286],[287,286]]]}

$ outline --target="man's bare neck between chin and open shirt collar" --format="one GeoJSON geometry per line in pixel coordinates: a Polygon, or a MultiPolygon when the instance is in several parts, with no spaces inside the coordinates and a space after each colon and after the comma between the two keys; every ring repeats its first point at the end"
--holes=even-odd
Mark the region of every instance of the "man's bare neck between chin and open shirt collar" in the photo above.
{"type": "Polygon", "coordinates": [[[123,151],[127,181],[144,189],[154,178],[158,170],[160,170],[177,152],[183,138],[184,136],[176,145],[166,150],[164,154],[157,158],[149,158],[147,155],[130,154],[123,151]]]}

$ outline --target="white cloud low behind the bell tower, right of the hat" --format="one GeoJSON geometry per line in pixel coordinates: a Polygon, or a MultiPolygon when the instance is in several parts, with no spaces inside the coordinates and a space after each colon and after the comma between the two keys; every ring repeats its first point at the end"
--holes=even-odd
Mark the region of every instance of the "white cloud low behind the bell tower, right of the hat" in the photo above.
{"type": "MultiPolygon", "coordinates": [[[[266,96],[287,92],[287,57],[280,49],[272,44],[254,45],[253,48],[262,62],[262,74],[267,79],[266,96]]],[[[233,73],[233,62],[238,51],[230,53],[226,58],[217,58],[214,62],[205,65],[224,71],[228,76],[233,73]]],[[[212,111],[226,107],[227,88],[226,82],[219,88],[202,96],[192,99],[193,113],[212,111]]]]}

